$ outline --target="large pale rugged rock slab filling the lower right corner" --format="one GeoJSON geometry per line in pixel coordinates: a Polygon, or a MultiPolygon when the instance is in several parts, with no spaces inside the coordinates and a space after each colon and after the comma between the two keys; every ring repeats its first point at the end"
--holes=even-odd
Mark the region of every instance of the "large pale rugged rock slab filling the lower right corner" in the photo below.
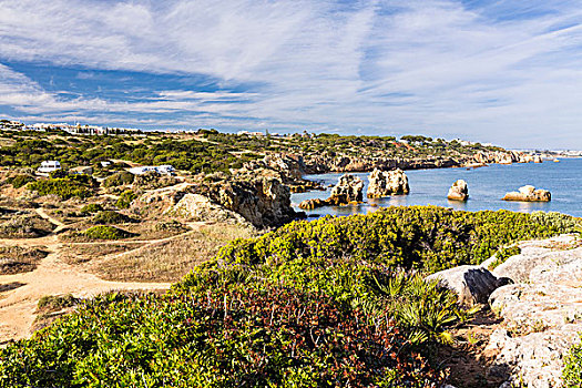
{"type": "Polygon", "coordinates": [[[486,353],[494,355],[491,372],[508,369],[527,387],[559,387],[563,357],[582,331],[582,243],[562,235],[520,247],[521,254],[493,270],[517,283],[489,298],[504,320],[486,353]]]}

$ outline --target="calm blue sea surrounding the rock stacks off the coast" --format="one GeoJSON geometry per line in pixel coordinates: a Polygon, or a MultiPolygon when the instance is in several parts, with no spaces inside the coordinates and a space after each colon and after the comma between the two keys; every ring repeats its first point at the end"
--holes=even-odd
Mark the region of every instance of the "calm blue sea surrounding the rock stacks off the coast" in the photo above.
{"type": "MultiPolygon", "coordinates": [[[[491,164],[474,170],[439,169],[407,171],[410,194],[394,195],[381,200],[367,200],[368,173],[356,173],[366,184],[365,203],[360,205],[326,206],[307,212],[309,216],[350,215],[376,211],[379,206],[438,205],[463,211],[497,211],[500,208],[514,212],[560,212],[582,217],[582,159],[561,159],[560,163],[544,161],[541,164],[491,164]],[[469,186],[469,201],[466,203],[447,200],[451,184],[464,180],[469,186]],[[549,203],[506,202],[501,197],[507,192],[531,184],[552,193],[549,203]]],[[[318,181],[325,185],[336,184],[343,174],[305,175],[305,178],[318,181]]],[[[292,194],[292,202],[297,206],[308,198],[327,198],[329,192],[313,191],[292,194]]]]}

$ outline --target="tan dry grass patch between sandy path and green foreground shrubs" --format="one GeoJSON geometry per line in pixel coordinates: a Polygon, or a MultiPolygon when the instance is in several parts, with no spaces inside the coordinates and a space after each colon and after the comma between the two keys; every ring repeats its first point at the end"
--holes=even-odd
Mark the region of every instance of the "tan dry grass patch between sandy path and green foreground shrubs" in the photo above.
{"type": "Polygon", "coordinates": [[[183,238],[150,244],[95,262],[92,269],[108,280],[176,282],[195,265],[212,258],[229,241],[248,238],[254,233],[239,225],[205,225],[183,238]]]}

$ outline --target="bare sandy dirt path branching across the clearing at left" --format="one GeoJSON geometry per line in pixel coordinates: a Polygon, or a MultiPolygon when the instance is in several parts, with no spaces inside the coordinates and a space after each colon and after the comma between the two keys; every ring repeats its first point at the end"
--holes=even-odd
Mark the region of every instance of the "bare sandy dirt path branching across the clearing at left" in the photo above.
{"type": "MultiPolygon", "coordinates": [[[[65,225],[50,217],[42,208],[37,210],[37,213],[57,225],[53,234],[41,238],[0,239],[0,244],[3,245],[43,246],[50,252],[32,272],[0,275],[0,286],[19,285],[17,288],[0,294],[0,344],[10,339],[24,338],[31,334],[38,300],[44,295],[70,293],[75,297],[86,298],[109,290],[167,289],[170,287],[169,283],[108,282],[64,263],[60,259],[62,244],[55,233],[65,225]]],[[[183,236],[141,243],[150,245],[183,236]]]]}

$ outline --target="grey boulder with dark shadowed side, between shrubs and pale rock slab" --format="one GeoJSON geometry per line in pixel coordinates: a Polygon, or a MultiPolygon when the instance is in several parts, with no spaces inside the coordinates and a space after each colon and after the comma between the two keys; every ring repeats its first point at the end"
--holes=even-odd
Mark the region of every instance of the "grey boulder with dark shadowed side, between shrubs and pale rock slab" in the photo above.
{"type": "Polygon", "coordinates": [[[487,304],[493,290],[511,283],[509,278],[498,278],[487,268],[476,265],[441,270],[428,276],[427,280],[438,280],[440,286],[457,293],[459,303],[468,306],[487,304]]]}

